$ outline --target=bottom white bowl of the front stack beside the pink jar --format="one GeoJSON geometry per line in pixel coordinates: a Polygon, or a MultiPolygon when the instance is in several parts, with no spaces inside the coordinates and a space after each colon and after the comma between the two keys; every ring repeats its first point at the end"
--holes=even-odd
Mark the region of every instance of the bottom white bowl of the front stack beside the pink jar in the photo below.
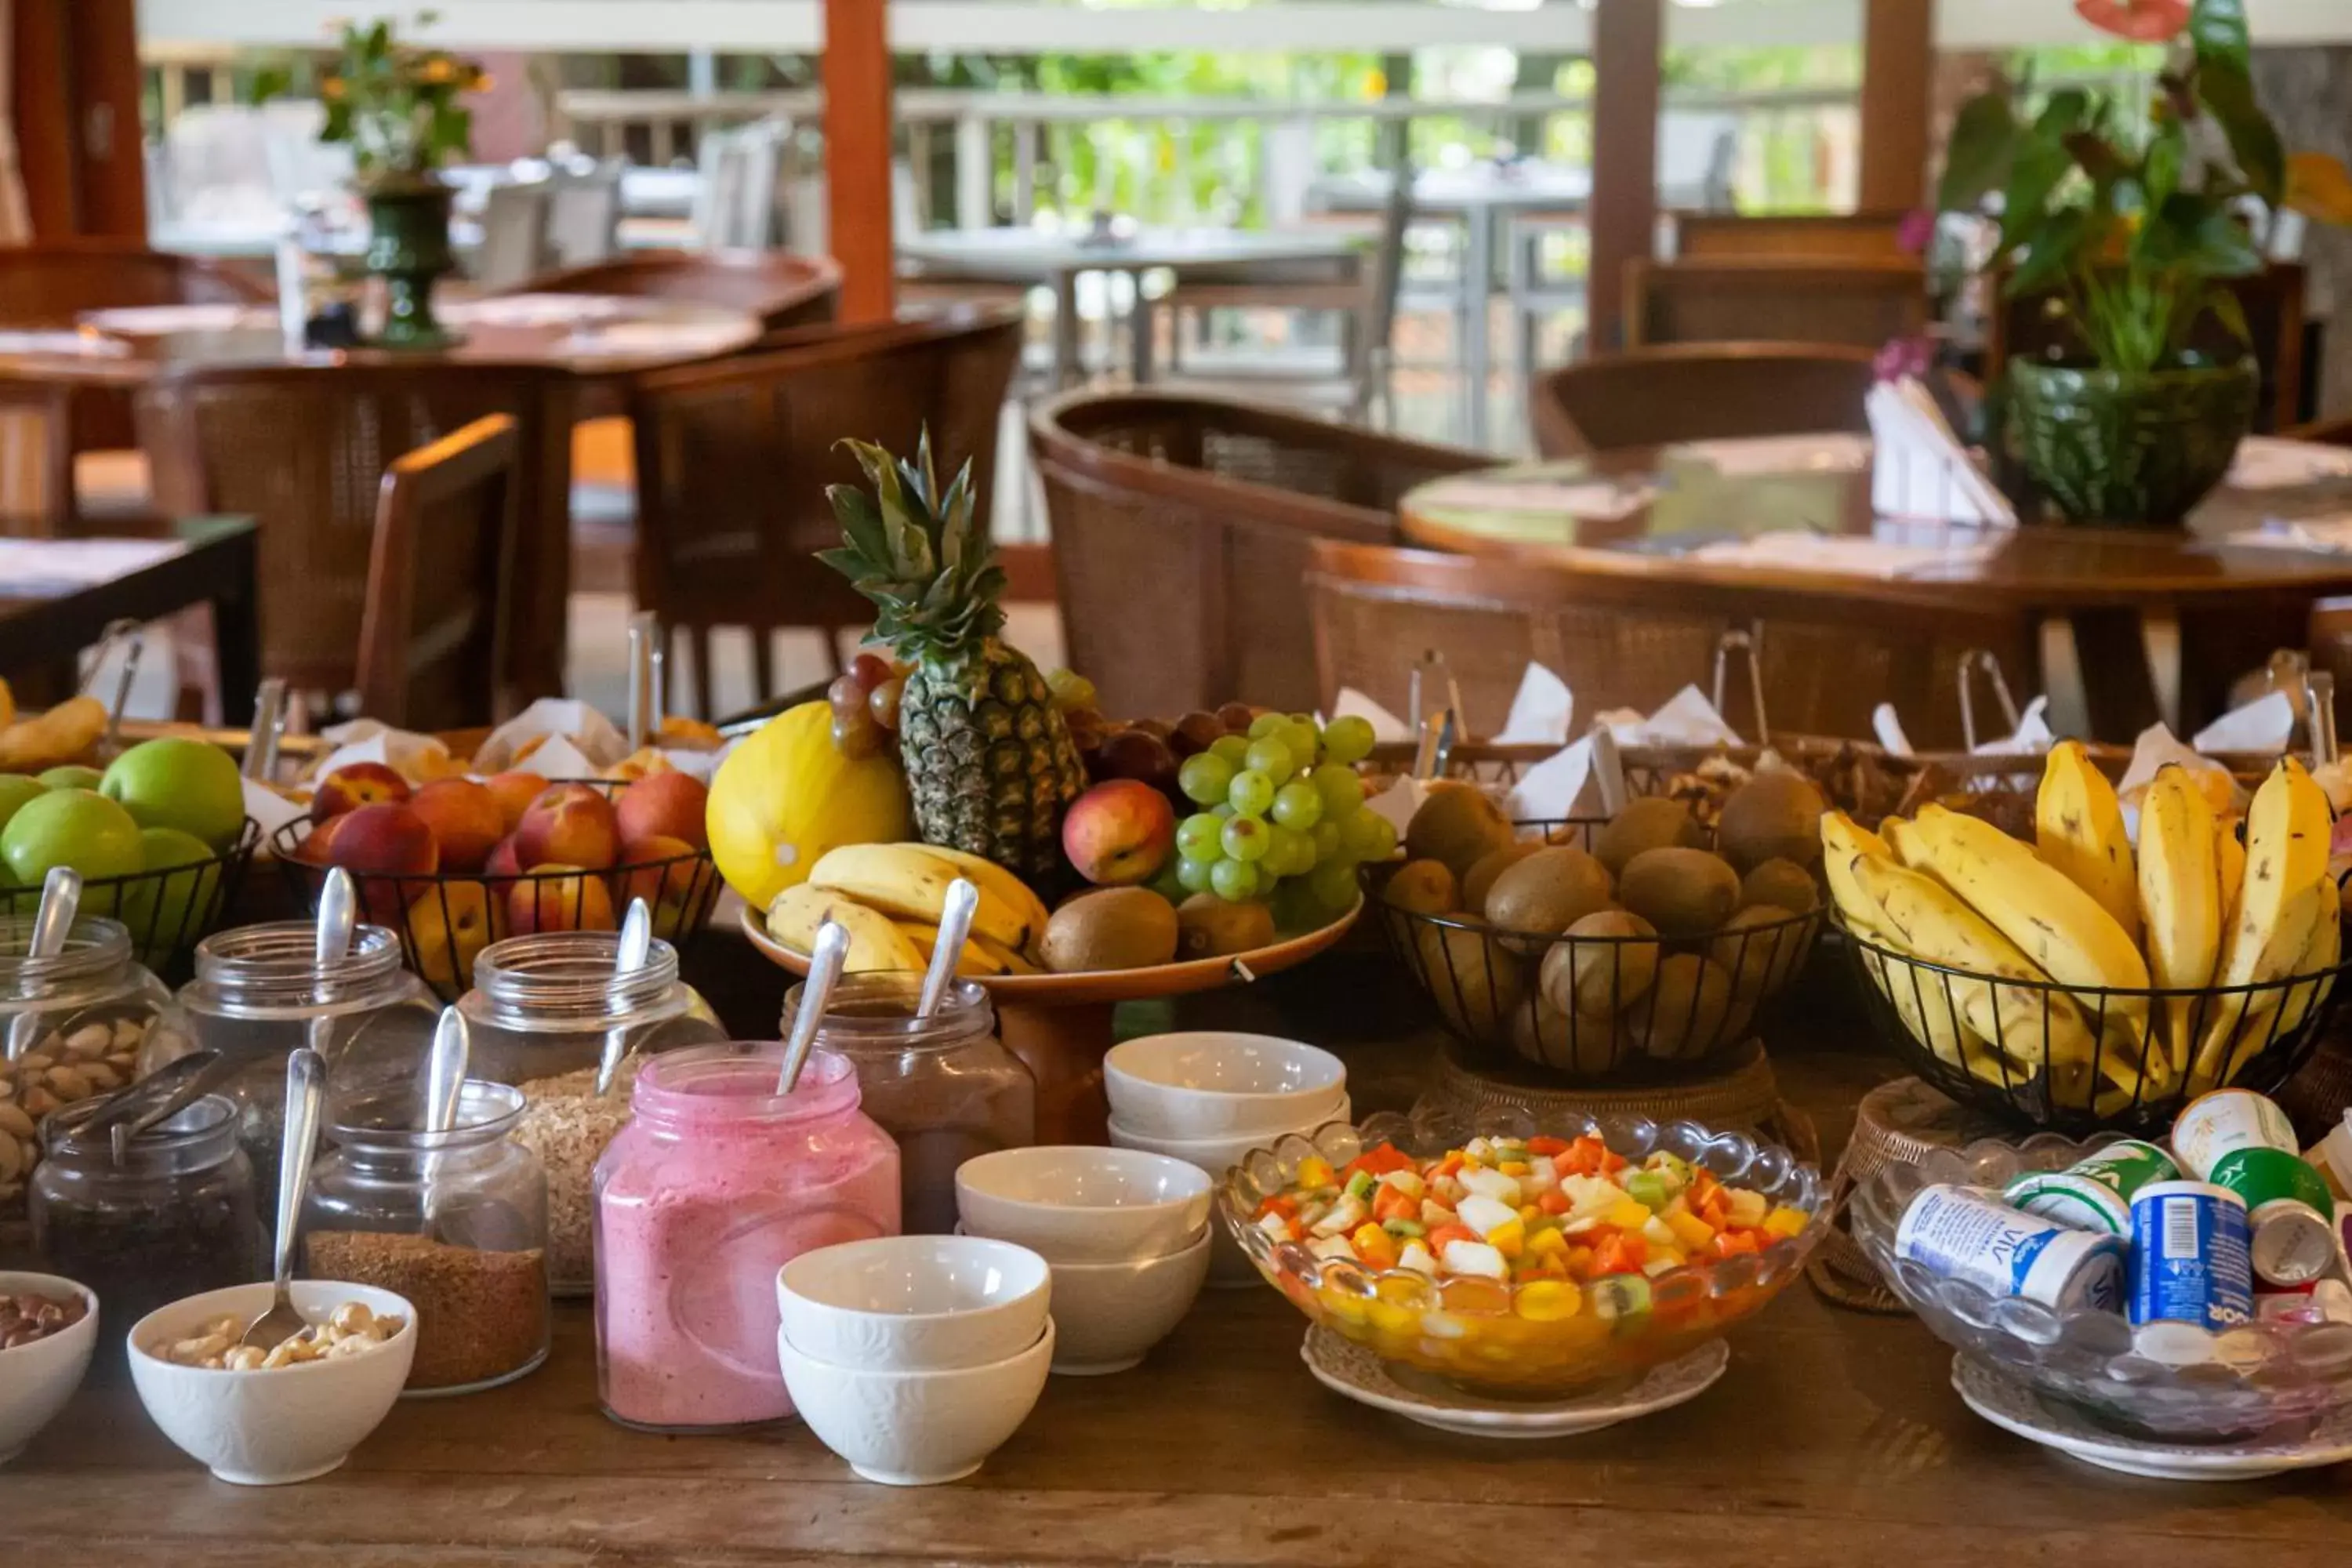
{"type": "Polygon", "coordinates": [[[1054,1324],[1018,1356],[936,1373],[835,1366],[776,1335],[793,1408],[849,1469],[882,1486],[960,1481],[1004,1446],[1044,1389],[1054,1324]]]}

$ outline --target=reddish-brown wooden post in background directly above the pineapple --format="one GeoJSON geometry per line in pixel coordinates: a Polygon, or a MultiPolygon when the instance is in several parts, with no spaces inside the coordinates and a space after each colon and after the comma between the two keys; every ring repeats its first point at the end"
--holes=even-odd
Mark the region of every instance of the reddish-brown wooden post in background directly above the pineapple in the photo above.
{"type": "Polygon", "coordinates": [[[894,310],[889,0],[826,0],[826,202],[842,320],[894,310]]]}

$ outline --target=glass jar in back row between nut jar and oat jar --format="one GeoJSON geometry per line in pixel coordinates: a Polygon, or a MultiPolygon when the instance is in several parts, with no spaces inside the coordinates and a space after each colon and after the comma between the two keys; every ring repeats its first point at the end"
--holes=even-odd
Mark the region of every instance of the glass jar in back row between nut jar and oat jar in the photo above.
{"type": "Polygon", "coordinates": [[[327,1065],[327,1093],[414,1084],[433,1044],[440,1004],[400,966],[400,938],[360,926],[339,959],[318,961],[306,919],[219,931],[195,945],[195,978],[179,987],[146,1067],[188,1051],[240,1063],[223,1093],[238,1103],[238,1140],[261,1182],[261,1215],[278,1215],[278,1150],[287,1119],[287,1053],[310,1046],[327,1065]]]}

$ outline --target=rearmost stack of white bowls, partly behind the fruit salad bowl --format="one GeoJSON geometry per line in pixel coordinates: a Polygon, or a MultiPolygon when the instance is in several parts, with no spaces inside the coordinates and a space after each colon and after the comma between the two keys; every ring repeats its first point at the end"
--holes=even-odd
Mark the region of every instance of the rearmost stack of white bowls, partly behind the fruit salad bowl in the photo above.
{"type": "MultiPolygon", "coordinates": [[[[1329,1051],[1272,1034],[1200,1030],[1145,1034],[1103,1058],[1110,1143],[1169,1154],[1223,1180],[1251,1150],[1327,1121],[1352,1121],[1348,1067],[1329,1051]]],[[[1209,1255],[1211,1286],[1256,1284],[1230,1237],[1209,1255]]]]}

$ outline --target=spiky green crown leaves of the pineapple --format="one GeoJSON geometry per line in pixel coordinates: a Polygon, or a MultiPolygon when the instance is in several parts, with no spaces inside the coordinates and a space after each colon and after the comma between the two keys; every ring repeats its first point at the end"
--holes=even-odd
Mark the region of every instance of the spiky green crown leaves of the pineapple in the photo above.
{"type": "Polygon", "coordinates": [[[842,545],[816,559],[873,599],[875,635],[908,658],[953,654],[1004,625],[997,599],[1004,571],[978,529],[971,461],[946,491],[924,428],[915,458],[894,458],[875,442],[844,440],[866,470],[868,489],[828,484],[842,545]]]}

